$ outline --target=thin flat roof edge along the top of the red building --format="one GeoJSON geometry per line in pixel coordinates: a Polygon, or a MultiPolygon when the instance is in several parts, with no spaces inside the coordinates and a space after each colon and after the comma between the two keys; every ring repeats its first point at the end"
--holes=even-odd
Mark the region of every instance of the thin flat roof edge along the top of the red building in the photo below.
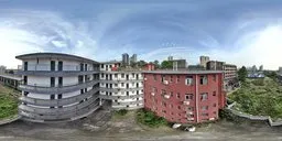
{"type": "Polygon", "coordinates": [[[223,70],[143,70],[145,74],[221,74],[223,70]]]}

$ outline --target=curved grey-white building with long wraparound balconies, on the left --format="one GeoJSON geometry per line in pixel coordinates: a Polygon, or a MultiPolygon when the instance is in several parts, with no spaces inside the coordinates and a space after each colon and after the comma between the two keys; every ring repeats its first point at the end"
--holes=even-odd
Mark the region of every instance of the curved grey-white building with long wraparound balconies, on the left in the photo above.
{"type": "Polygon", "coordinates": [[[70,121],[97,110],[99,64],[59,53],[19,55],[22,83],[19,113],[33,122],[70,121]]]}

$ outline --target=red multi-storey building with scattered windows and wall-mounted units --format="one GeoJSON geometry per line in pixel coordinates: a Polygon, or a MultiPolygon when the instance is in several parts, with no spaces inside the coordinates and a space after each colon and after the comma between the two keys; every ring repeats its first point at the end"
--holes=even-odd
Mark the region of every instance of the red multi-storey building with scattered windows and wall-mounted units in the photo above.
{"type": "Polygon", "coordinates": [[[218,119],[225,107],[223,72],[144,72],[144,108],[172,122],[218,119]]]}

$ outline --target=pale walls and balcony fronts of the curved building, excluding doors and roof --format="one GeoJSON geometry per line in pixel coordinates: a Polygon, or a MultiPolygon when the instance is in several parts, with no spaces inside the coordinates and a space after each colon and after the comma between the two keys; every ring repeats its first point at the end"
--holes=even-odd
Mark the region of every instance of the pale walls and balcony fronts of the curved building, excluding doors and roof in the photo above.
{"type": "MultiPolygon", "coordinates": [[[[56,57],[56,58],[29,58],[29,59],[22,59],[23,61],[23,67],[22,67],[22,72],[24,74],[24,62],[28,62],[28,70],[29,72],[34,72],[34,74],[36,74],[36,72],[39,70],[46,70],[46,72],[51,72],[51,61],[55,61],[55,72],[56,73],[58,70],[58,61],[63,62],[63,73],[66,73],[66,70],[75,70],[75,72],[80,72],[80,64],[85,65],[87,64],[87,70],[95,70],[95,62],[94,64],[90,63],[85,63],[84,61],[79,62],[79,61],[72,61],[72,59],[64,59],[64,57],[62,56],[62,58],[56,57]]],[[[86,72],[84,69],[84,72],[86,72]]],[[[89,73],[88,73],[89,74],[89,73]]],[[[83,83],[86,83],[85,78],[89,77],[90,82],[95,82],[96,79],[94,79],[94,75],[96,75],[96,73],[94,72],[93,74],[89,75],[83,75],[83,83]]],[[[98,75],[98,74],[97,74],[98,75]]],[[[26,86],[31,87],[32,89],[37,89],[37,88],[45,88],[45,89],[58,89],[58,88],[64,88],[64,87],[74,87],[74,86],[79,86],[82,84],[78,83],[78,75],[73,75],[73,76],[59,76],[63,78],[63,86],[58,86],[58,77],[54,77],[55,78],[55,86],[51,87],[51,76],[47,75],[33,75],[33,74],[28,74],[28,75],[23,75],[22,79],[24,79],[24,77],[28,78],[28,84],[26,85],[22,85],[20,88],[24,89],[26,86]]],[[[43,93],[43,91],[29,91],[29,90],[22,90],[22,97],[20,98],[21,100],[21,105],[19,106],[19,110],[20,110],[20,115],[22,115],[24,117],[25,120],[31,120],[31,121],[35,121],[35,122],[42,122],[42,121],[54,121],[54,120],[58,120],[58,121],[65,121],[65,120],[73,120],[76,119],[83,115],[88,115],[90,113],[90,111],[95,110],[97,107],[94,106],[99,106],[99,99],[96,99],[94,96],[98,95],[95,94],[95,90],[90,91],[91,89],[97,89],[98,87],[95,86],[88,86],[85,87],[84,85],[82,85],[82,87],[77,87],[77,88],[73,88],[72,91],[68,93],[63,93],[63,94],[53,94],[53,93],[43,93]],[[83,89],[80,89],[83,88],[83,89]],[[83,90],[83,94],[82,94],[83,90]],[[87,93],[87,91],[88,93],[87,93]],[[87,93],[87,95],[86,95],[87,93]],[[62,98],[59,98],[58,96],[62,95],[62,98]],[[85,99],[78,100],[80,95],[85,95],[85,99]],[[57,102],[59,102],[59,100],[63,102],[64,105],[59,104],[57,105],[56,102],[54,102],[54,100],[51,99],[51,97],[54,96],[54,100],[57,100],[57,102]],[[65,98],[68,98],[68,100],[66,100],[65,98]],[[70,99],[69,99],[70,98],[70,99]],[[90,99],[93,100],[90,100],[90,99]],[[28,99],[28,100],[26,100],[28,99]],[[76,99],[76,100],[74,100],[76,99]],[[95,100],[96,99],[96,100],[95,100]],[[40,102],[41,101],[41,102],[40,102]],[[90,102],[93,101],[93,102],[90,102]],[[54,105],[53,105],[54,104],[54,105]],[[62,107],[61,107],[62,106],[62,107]],[[64,108],[67,108],[67,110],[64,110],[64,108]],[[79,107],[82,109],[79,109],[79,107]],[[89,107],[88,109],[85,109],[85,107],[89,107]],[[84,108],[84,109],[83,109],[84,108]],[[46,110],[46,112],[42,112],[42,110],[46,110]],[[69,110],[69,112],[67,112],[69,110]],[[55,115],[53,112],[55,112],[55,115]],[[61,112],[62,111],[62,112],[61,112]],[[68,116],[69,115],[69,116],[68,116]]]]}

